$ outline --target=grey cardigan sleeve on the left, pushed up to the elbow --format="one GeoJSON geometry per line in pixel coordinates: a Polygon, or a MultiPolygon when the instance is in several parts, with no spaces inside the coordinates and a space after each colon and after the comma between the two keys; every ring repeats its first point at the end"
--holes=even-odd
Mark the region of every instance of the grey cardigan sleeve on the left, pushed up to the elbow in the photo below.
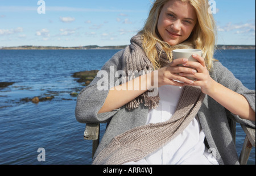
{"type": "Polygon", "coordinates": [[[97,77],[77,96],[75,115],[80,123],[106,123],[118,112],[119,109],[98,114],[109,94],[110,86],[118,79],[114,77],[114,73],[122,69],[122,52],[119,51],[110,58],[97,77]]]}

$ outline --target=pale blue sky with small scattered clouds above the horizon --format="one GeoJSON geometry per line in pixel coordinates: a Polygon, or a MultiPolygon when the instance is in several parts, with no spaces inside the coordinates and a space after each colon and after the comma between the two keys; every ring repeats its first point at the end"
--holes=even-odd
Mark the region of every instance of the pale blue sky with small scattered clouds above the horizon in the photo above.
{"type": "MultiPolygon", "coordinates": [[[[255,45],[255,1],[211,1],[217,44],[255,45]]],[[[0,0],[0,47],[127,45],[143,28],[152,2],[0,0]]]]}

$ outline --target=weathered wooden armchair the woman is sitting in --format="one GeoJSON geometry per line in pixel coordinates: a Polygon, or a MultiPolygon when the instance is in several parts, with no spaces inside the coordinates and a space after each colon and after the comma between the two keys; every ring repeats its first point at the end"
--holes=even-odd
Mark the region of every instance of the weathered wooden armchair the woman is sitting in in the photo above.
{"type": "MultiPolygon", "coordinates": [[[[255,147],[255,129],[246,127],[245,125],[241,125],[243,131],[245,132],[245,141],[243,142],[242,150],[240,153],[240,164],[246,165],[248,158],[250,156],[251,149],[253,146],[255,147]]],[[[236,142],[236,122],[230,122],[230,130],[232,132],[232,136],[234,141],[236,142]]],[[[86,124],[85,131],[84,131],[84,139],[85,140],[92,140],[92,157],[96,152],[98,144],[100,143],[100,124],[93,123],[93,124],[86,124]]]]}

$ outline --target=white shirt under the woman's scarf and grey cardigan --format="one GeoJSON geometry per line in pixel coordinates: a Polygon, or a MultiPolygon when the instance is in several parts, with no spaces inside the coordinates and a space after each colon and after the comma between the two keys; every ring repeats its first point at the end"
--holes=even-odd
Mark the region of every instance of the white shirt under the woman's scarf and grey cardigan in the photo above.
{"type": "MultiPolygon", "coordinates": [[[[150,110],[147,116],[147,124],[159,123],[169,120],[176,110],[177,103],[183,87],[162,86],[159,88],[159,106],[150,110]]],[[[204,145],[204,132],[199,120],[194,118],[180,135],[170,143],[164,145],[154,153],[149,154],[139,161],[127,162],[131,164],[150,165],[181,165],[181,164],[218,164],[214,157],[214,150],[208,152],[204,145]]]]}

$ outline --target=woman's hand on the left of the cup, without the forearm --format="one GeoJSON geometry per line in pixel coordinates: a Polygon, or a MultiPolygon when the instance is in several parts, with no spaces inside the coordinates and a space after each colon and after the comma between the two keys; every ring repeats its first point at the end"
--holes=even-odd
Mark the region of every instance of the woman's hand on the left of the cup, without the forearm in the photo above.
{"type": "Polygon", "coordinates": [[[184,86],[184,83],[193,84],[193,81],[180,76],[180,73],[195,74],[196,70],[179,66],[180,64],[186,64],[188,60],[186,58],[178,58],[173,60],[170,64],[167,64],[163,68],[160,68],[154,72],[158,72],[158,87],[164,85],[184,86]],[[175,81],[174,81],[175,80],[175,81]],[[179,81],[179,82],[177,82],[179,81]]]}

